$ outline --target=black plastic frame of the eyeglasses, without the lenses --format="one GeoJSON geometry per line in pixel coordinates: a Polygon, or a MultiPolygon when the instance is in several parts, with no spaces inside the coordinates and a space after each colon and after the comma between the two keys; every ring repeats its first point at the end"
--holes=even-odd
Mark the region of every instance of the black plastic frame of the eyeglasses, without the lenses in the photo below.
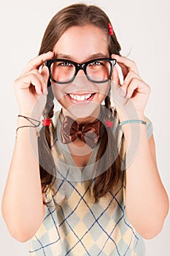
{"type": "Polygon", "coordinates": [[[72,83],[72,81],[74,80],[74,78],[76,77],[77,73],[79,72],[80,69],[82,69],[84,72],[85,72],[85,75],[86,77],[88,78],[88,80],[90,80],[90,82],[93,82],[93,83],[106,83],[108,82],[111,77],[112,77],[112,71],[113,71],[113,67],[115,66],[116,64],[116,60],[115,59],[109,59],[109,58],[100,58],[100,59],[92,59],[90,61],[86,61],[82,64],[78,64],[77,62],[74,62],[74,61],[69,61],[67,59],[49,59],[47,61],[45,61],[45,65],[47,66],[48,70],[49,70],[49,73],[50,73],[50,79],[53,80],[53,82],[55,83],[58,83],[58,84],[66,84],[66,83],[72,83]],[[63,62],[69,62],[70,64],[73,64],[74,67],[75,67],[75,72],[74,72],[74,75],[72,76],[72,79],[67,81],[67,82],[58,82],[56,81],[54,78],[53,78],[53,75],[52,75],[52,72],[51,72],[51,64],[53,64],[54,62],[57,62],[57,61],[63,61],[63,62]],[[88,67],[88,64],[90,64],[91,62],[93,61],[109,61],[109,64],[110,64],[110,73],[109,73],[109,78],[107,78],[106,80],[102,80],[102,81],[95,81],[93,79],[91,79],[87,72],[86,72],[86,69],[88,67]]]}

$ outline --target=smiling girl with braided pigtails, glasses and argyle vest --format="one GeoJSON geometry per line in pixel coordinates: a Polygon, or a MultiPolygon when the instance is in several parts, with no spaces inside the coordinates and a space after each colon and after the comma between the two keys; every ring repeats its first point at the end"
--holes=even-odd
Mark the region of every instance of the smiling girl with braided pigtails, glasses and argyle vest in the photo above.
{"type": "Polygon", "coordinates": [[[169,200],[144,116],[150,86],[120,56],[107,15],[86,4],[58,12],[14,87],[18,128],[2,201],[12,236],[30,240],[32,256],[144,255],[142,237],[161,232],[169,200]]]}

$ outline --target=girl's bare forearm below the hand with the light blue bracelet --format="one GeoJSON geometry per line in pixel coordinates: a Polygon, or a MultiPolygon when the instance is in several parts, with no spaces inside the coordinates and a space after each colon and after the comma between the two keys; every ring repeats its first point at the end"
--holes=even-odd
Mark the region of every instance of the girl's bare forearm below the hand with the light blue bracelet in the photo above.
{"type": "Polygon", "coordinates": [[[125,189],[126,212],[136,230],[145,238],[152,238],[161,231],[169,209],[169,200],[161,183],[157,166],[152,159],[146,127],[144,124],[131,124],[131,129],[129,124],[125,124],[123,127],[125,143],[128,148],[126,154],[128,165],[125,189]],[[136,131],[138,138],[140,136],[139,140],[133,136],[136,131]],[[135,154],[133,158],[132,154],[135,154]]]}

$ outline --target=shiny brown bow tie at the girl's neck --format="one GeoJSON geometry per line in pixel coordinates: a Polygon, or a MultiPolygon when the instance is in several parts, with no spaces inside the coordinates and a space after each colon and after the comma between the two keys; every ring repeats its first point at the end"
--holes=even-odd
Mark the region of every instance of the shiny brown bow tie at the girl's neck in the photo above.
{"type": "Polygon", "coordinates": [[[99,138],[100,121],[96,120],[93,123],[79,125],[69,116],[63,118],[61,127],[61,137],[64,144],[70,143],[79,137],[82,141],[93,148],[99,138]]]}

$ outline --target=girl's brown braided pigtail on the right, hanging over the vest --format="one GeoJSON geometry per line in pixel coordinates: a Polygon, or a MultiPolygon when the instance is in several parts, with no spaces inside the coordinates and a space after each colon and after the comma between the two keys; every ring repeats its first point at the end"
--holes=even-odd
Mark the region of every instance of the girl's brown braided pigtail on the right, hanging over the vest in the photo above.
{"type": "MultiPolygon", "coordinates": [[[[107,96],[104,102],[106,107],[105,115],[112,120],[110,97],[107,96]]],[[[120,180],[121,170],[121,158],[118,154],[116,138],[114,138],[112,134],[112,128],[105,127],[104,124],[102,124],[101,129],[103,130],[103,132],[101,132],[101,144],[96,156],[96,162],[98,162],[96,164],[97,175],[93,185],[93,196],[96,201],[99,197],[106,195],[109,189],[112,189],[112,187],[117,184],[120,180]],[[103,171],[104,173],[100,174],[103,171]]]]}

